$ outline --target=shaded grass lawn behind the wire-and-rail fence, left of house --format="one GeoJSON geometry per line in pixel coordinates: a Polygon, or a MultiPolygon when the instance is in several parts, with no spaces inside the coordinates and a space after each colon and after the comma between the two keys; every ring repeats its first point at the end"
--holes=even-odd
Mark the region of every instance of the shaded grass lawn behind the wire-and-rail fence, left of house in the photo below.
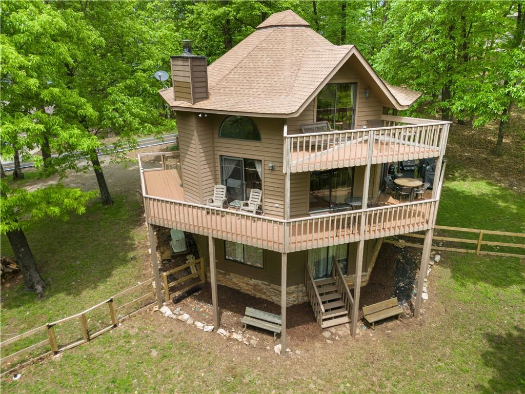
{"type": "MultiPolygon", "coordinates": [[[[2,335],[80,312],[143,278],[148,248],[141,199],[114,200],[108,207],[94,200],[85,214],[71,215],[68,222],[46,219],[26,231],[47,284],[45,297],[25,292],[23,280],[3,284],[2,335]]],[[[7,237],[0,243],[2,255],[12,256],[7,237]]]]}

